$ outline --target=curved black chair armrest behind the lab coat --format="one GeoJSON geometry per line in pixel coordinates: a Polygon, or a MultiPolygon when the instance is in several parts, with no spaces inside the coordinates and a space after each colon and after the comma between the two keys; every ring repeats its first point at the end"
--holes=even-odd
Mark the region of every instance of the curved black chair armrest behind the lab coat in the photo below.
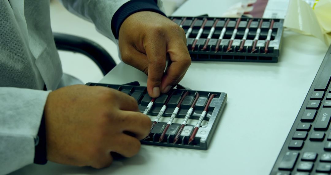
{"type": "Polygon", "coordinates": [[[112,56],[94,41],[64,33],[54,32],[53,35],[58,50],[78,52],[86,55],[98,65],[104,76],[116,66],[112,56]]]}

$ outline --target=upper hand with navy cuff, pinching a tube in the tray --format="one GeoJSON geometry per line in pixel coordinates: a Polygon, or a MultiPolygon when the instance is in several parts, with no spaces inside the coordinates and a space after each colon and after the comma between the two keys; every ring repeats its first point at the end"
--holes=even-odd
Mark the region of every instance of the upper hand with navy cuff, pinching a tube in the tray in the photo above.
{"type": "Polygon", "coordinates": [[[176,86],[191,64],[184,30],[155,12],[130,15],[119,29],[118,45],[124,63],[148,75],[147,91],[158,97],[176,86]],[[166,55],[170,57],[166,68],[166,55]]]}

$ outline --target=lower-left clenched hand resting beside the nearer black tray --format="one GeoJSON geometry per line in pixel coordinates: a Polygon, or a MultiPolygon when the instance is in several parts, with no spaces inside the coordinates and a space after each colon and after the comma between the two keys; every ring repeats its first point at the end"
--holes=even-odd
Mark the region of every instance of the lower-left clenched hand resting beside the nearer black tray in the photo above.
{"type": "Polygon", "coordinates": [[[111,152],[132,157],[151,127],[134,98],[108,87],[55,90],[48,95],[44,114],[47,159],[76,166],[109,166],[111,152]]]}

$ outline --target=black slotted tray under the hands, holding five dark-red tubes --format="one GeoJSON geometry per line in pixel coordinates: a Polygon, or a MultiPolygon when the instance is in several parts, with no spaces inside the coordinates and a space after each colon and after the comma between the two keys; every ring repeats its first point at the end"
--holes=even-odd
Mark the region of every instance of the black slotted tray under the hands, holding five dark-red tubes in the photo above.
{"type": "MultiPolygon", "coordinates": [[[[111,84],[100,84],[100,83],[87,83],[88,86],[104,86],[110,87],[117,90],[120,90],[128,95],[134,97],[139,105],[140,112],[144,112],[147,105],[151,101],[151,97],[147,93],[146,87],[141,86],[130,86],[130,85],[111,85],[111,84]]],[[[138,84],[139,85],[139,84],[138,84]]],[[[158,115],[160,109],[163,106],[163,103],[167,97],[167,95],[171,94],[172,91],[175,91],[174,94],[171,96],[167,108],[162,115],[161,122],[157,123],[150,134],[149,139],[141,140],[142,144],[145,145],[157,145],[157,146],[171,146],[171,147],[181,147],[181,148],[191,148],[191,149],[203,149],[207,150],[212,136],[214,134],[216,125],[221,117],[221,113],[223,108],[226,104],[227,94],[224,92],[208,92],[208,91],[196,91],[196,90],[186,90],[186,89],[171,89],[168,94],[162,94],[159,98],[157,98],[151,107],[150,111],[147,113],[148,116],[154,121],[154,117],[158,115]],[[174,111],[181,95],[183,95],[186,91],[188,91],[188,96],[186,96],[181,104],[181,108],[178,111],[173,123],[170,125],[166,132],[166,137],[163,142],[159,142],[160,135],[163,132],[163,129],[166,126],[166,122],[171,116],[172,112],[174,111]],[[190,108],[195,93],[198,92],[200,97],[197,100],[195,108],[192,112],[192,115],[188,121],[188,124],[184,127],[182,133],[180,134],[180,138],[176,144],[173,144],[174,136],[176,135],[179,126],[181,125],[181,121],[188,109],[190,108]],[[215,94],[214,98],[212,99],[209,107],[208,113],[204,118],[202,126],[199,127],[198,132],[195,136],[193,142],[188,144],[189,137],[191,136],[193,129],[195,127],[196,121],[199,119],[201,113],[203,112],[207,99],[209,95],[215,94]],[[162,121],[166,122],[162,122],[162,121]],[[176,123],[179,122],[179,123],[176,123]]]]}

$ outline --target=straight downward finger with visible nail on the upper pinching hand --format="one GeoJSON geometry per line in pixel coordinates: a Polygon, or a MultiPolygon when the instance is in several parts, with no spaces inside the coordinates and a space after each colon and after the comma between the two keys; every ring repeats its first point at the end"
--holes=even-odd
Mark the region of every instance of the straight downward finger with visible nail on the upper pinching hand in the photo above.
{"type": "Polygon", "coordinates": [[[145,51],[149,60],[147,91],[151,97],[160,96],[161,80],[166,68],[166,40],[164,35],[157,34],[146,39],[145,51]]]}

